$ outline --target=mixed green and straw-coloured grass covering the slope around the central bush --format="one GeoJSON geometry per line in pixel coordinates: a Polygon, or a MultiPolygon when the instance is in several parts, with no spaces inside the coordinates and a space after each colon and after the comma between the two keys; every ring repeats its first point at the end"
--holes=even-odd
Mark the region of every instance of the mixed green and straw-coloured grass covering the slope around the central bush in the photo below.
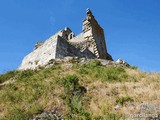
{"type": "MultiPolygon", "coordinates": [[[[88,66],[70,64],[18,73],[15,83],[0,88],[0,118],[13,118],[10,113],[17,109],[24,110],[24,114],[20,114],[20,118],[24,119],[54,108],[67,115],[68,106],[62,99],[65,91],[61,79],[73,74],[79,78],[79,84],[87,89],[80,101],[82,113],[69,113],[76,119],[85,119],[84,113],[87,113],[90,116],[88,119],[121,120],[125,119],[125,114],[139,113],[141,104],[160,106],[159,73],[145,73],[131,68],[105,68],[95,63],[88,66]],[[39,92],[40,95],[36,97],[39,92]]],[[[160,114],[160,111],[156,112],[160,114]]]]}

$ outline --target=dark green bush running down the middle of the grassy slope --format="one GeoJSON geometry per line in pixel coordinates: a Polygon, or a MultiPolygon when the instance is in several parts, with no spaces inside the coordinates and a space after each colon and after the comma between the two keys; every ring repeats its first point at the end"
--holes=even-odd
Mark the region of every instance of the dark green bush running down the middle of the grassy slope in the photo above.
{"type": "Polygon", "coordinates": [[[85,87],[80,86],[76,75],[68,75],[62,79],[65,95],[61,97],[65,100],[69,109],[67,119],[89,119],[90,114],[83,109],[81,95],[86,92],[85,87]],[[75,115],[78,117],[76,118],[75,115]]]}

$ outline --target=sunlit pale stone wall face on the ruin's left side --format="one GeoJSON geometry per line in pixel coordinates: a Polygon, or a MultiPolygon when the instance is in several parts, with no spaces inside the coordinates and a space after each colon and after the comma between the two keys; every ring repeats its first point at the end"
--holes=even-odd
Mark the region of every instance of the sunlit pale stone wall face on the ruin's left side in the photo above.
{"type": "Polygon", "coordinates": [[[50,59],[55,59],[57,46],[57,35],[50,37],[36,50],[24,57],[18,69],[34,69],[47,64],[50,59]]]}

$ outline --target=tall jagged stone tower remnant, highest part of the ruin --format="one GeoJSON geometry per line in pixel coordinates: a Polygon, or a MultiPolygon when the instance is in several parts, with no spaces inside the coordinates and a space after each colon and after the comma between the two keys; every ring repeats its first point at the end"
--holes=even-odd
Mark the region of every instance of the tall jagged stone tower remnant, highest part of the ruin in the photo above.
{"type": "Polygon", "coordinates": [[[87,41],[88,49],[97,58],[112,60],[107,53],[103,28],[98,24],[90,9],[86,11],[87,17],[83,20],[83,37],[87,41]]]}

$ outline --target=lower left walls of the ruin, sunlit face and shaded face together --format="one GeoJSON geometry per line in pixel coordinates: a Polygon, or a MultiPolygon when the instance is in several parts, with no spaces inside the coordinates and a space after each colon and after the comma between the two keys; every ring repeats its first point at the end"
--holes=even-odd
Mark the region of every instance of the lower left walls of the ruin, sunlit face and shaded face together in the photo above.
{"type": "Polygon", "coordinates": [[[73,32],[64,29],[47,39],[44,43],[37,46],[33,52],[24,57],[19,70],[35,69],[38,66],[45,66],[51,59],[64,58],[66,56],[77,56],[85,58],[95,58],[89,50],[83,52],[68,42],[68,36],[73,32]]]}

